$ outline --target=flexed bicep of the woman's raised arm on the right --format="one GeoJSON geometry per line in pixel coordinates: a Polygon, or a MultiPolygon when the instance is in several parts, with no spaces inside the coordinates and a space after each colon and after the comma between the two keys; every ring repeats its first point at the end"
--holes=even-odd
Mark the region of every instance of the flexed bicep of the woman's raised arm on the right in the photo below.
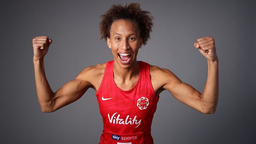
{"type": "Polygon", "coordinates": [[[203,101],[200,98],[201,93],[191,85],[182,82],[175,74],[165,70],[166,83],[163,86],[178,101],[190,106],[191,108],[203,112],[203,101]]]}

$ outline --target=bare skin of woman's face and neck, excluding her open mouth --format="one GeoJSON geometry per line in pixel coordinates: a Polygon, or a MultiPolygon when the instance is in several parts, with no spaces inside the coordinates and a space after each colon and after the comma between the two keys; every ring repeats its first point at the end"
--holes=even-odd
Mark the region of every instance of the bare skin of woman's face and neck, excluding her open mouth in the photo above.
{"type": "Polygon", "coordinates": [[[139,61],[137,54],[142,45],[138,24],[135,22],[117,20],[110,29],[110,38],[107,38],[108,47],[114,56],[114,79],[122,90],[130,90],[137,83],[139,77],[139,61]],[[122,64],[118,53],[131,54],[130,64],[122,64]]]}

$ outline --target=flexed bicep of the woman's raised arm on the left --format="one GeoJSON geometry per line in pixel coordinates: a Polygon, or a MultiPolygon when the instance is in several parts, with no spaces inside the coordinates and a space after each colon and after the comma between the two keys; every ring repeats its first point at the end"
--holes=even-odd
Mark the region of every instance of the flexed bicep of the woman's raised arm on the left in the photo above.
{"type": "Polygon", "coordinates": [[[84,77],[89,77],[86,75],[85,70],[54,93],[54,98],[51,102],[52,112],[75,102],[83,96],[91,87],[91,83],[84,80],[84,77]]]}

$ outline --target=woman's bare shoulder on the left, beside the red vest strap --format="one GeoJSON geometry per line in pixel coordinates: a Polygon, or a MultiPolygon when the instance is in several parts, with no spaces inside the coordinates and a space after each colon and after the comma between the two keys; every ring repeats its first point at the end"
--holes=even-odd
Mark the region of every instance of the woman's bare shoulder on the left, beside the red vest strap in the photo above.
{"type": "Polygon", "coordinates": [[[86,67],[76,79],[89,82],[91,88],[97,90],[104,75],[106,63],[86,67]]]}

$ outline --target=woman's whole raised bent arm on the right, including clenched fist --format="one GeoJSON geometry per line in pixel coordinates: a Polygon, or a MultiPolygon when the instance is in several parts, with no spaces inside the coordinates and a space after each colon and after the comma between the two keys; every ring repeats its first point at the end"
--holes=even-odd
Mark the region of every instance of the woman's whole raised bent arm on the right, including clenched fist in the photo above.
{"type": "Polygon", "coordinates": [[[160,72],[163,89],[167,89],[177,100],[205,114],[215,113],[219,96],[219,72],[215,40],[206,36],[197,39],[194,47],[207,59],[208,75],[202,93],[189,84],[183,83],[177,76],[167,69],[160,72]]]}

